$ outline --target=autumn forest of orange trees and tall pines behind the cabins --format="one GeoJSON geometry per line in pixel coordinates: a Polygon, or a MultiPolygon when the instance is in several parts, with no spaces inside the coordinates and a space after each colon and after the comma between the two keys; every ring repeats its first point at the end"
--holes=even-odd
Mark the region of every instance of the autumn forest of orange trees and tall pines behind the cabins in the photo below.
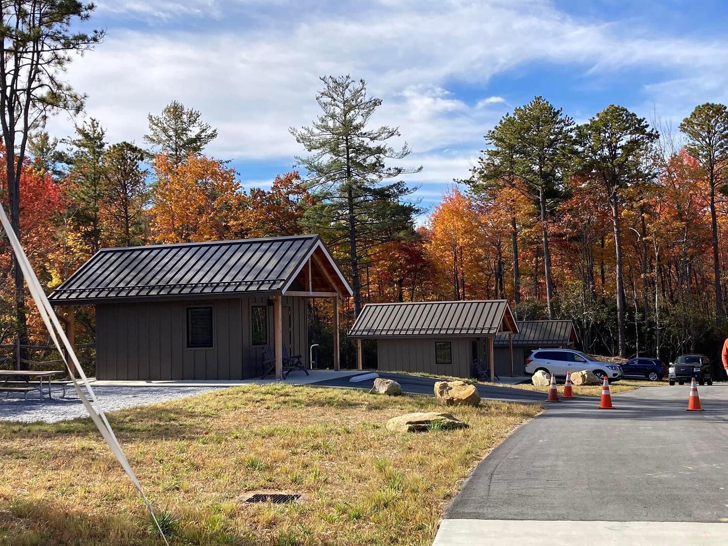
{"type": "MultiPolygon", "coordinates": [[[[48,290],[104,247],[319,233],[354,290],[344,328],[368,302],[506,298],[521,320],[574,320],[588,352],[717,352],[727,331],[724,105],[697,106],[673,130],[614,105],[577,124],[536,97],[486,132],[470,176],[427,211],[406,183],[422,167],[400,165],[411,150],[394,146],[399,130],[371,122],[381,100],[363,80],[325,76],[320,115],[290,128],[301,146],[290,172],[246,189],[206,153],[215,128],[176,100],[149,114],[143,143],[108,142],[92,118],[67,138],[48,135],[48,115],[84,106],[58,74],[103,32],[71,30],[92,7],[47,3],[57,11],[4,14],[14,55],[0,68],[15,78],[0,82],[0,177],[48,290]]],[[[42,337],[7,242],[2,251],[3,341],[42,337]]],[[[314,313],[318,336],[328,318],[314,313]]],[[[92,336],[92,312],[77,319],[92,336]]]]}

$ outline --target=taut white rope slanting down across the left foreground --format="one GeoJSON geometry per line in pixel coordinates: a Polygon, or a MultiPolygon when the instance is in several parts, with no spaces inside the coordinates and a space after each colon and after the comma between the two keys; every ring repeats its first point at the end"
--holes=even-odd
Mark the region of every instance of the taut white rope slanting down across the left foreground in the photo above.
{"type": "MultiPolygon", "coordinates": [[[[31,296],[33,296],[33,301],[36,302],[36,306],[38,307],[38,312],[41,315],[41,318],[43,319],[43,322],[48,330],[48,333],[51,336],[51,339],[53,340],[53,343],[55,344],[56,349],[58,349],[58,352],[60,352],[60,357],[63,359],[63,363],[66,364],[66,370],[68,370],[68,376],[71,378],[71,381],[74,383],[74,389],[76,389],[76,394],[79,395],[79,398],[83,402],[86,410],[89,412],[89,415],[91,416],[91,419],[95,423],[96,427],[98,428],[99,432],[103,436],[103,439],[106,440],[106,443],[108,447],[111,449],[111,452],[116,456],[116,460],[119,461],[119,464],[122,465],[122,468],[124,469],[124,472],[127,473],[130,480],[132,480],[132,483],[134,484],[135,488],[139,491],[139,494],[141,494],[141,498],[146,505],[146,509],[149,510],[149,514],[151,515],[152,520],[154,521],[154,525],[157,526],[157,530],[159,531],[159,534],[162,536],[162,539],[165,541],[165,545],[169,546],[169,542],[167,542],[167,537],[165,537],[164,532],[162,531],[162,528],[159,526],[159,522],[157,521],[157,516],[154,515],[154,509],[151,507],[151,503],[149,502],[149,499],[146,498],[146,495],[144,494],[144,490],[141,486],[141,483],[139,483],[139,480],[137,479],[134,470],[132,470],[132,467],[129,464],[129,461],[127,460],[127,456],[124,455],[124,451],[122,450],[122,446],[119,445],[119,440],[116,439],[116,435],[114,434],[114,430],[111,429],[111,425],[108,424],[108,421],[106,420],[106,414],[103,412],[103,408],[101,408],[100,403],[98,402],[98,399],[96,398],[95,392],[93,392],[93,389],[91,388],[91,385],[89,384],[88,378],[86,377],[86,374],[84,373],[83,369],[81,368],[81,364],[79,364],[79,359],[76,357],[76,352],[74,352],[74,348],[71,347],[71,343],[68,341],[68,338],[66,337],[66,332],[63,331],[63,328],[60,326],[60,322],[58,321],[58,317],[56,316],[55,312],[53,311],[53,308],[50,304],[50,301],[48,301],[48,298],[45,295],[45,292],[43,291],[43,288],[41,287],[41,283],[38,280],[38,277],[36,277],[36,273],[33,271],[33,267],[31,266],[30,262],[28,261],[28,257],[25,256],[25,252],[23,251],[23,247],[20,245],[20,241],[17,240],[17,236],[15,235],[15,232],[12,230],[12,226],[10,225],[10,222],[7,218],[7,214],[5,213],[5,207],[0,205],[0,221],[2,222],[2,227],[5,230],[5,234],[7,234],[7,238],[10,241],[10,246],[12,247],[12,251],[15,253],[15,258],[17,258],[17,263],[20,265],[20,269],[23,271],[23,276],[25,277],[25,282],[28,284],[28,290],[30,290],[31,296]],[[60,338],[60,342],[59,342],[60,338]],[[61,344],[63,344],[63,347],[61,347],[61,344]],[[64,352],[63,349],[66,349],[64,352]],[[73,364],[73,368],[71,368],[71,364],[68,363],[68,359],[66,358],[66,355],[70,357],[71,364],[73,364]],[[93,400],[93,405],[91,405],[90,401],[84,395],[84,392],[81,390],[79,381],[76,380],[76,376],[74,375],[74,370],[76,373],[78,373],[79,377],[82,379],[84,387],[86,387],[88,393],[91,395],[91,399],[93,400]]],[[[50,389],[50,384],[49,384],[50,389]]],[[[42,393],[41,393],[42,394],[42,393]]]]}

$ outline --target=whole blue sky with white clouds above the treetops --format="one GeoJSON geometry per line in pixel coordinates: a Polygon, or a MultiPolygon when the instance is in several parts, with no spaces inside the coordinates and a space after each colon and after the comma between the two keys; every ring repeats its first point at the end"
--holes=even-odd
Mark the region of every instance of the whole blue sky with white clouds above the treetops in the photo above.
{"type": "MultiPolygon", "coordinates": [[[[143,144],[171,100],[217,127],[208,155],[266,187],[304,154],[288,132],[319,113],[324,75],[351,74],[400,128],[398,165],[431,210],[467,178],[483,135],[542,95],[577,122],[610,103],[676,127],[728,101],[721,0],[96,0],[81,28],[106,29],[66,80],[108,141],[143,144]]],[[[51,120],[65,137],[81,116],[51,120]]]]}

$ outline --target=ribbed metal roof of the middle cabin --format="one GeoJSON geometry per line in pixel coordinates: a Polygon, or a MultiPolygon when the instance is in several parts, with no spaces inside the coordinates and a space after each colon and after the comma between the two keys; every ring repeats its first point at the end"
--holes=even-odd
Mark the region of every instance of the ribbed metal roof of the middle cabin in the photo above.
{"type": "Polygon", "coordinates": [[[492,336],[502,331],[506,318],[515,328],[505,300],[367,304],[349,336],[492,336]]]}

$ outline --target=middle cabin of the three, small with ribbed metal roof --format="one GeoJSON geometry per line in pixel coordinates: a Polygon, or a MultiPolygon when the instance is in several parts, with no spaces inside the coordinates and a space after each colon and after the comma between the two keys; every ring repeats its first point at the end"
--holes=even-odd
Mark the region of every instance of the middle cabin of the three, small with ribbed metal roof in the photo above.
{"type": "Polygon", "coordinates": [[[494,339],[513,336],[518,325],[505,300],[416,301],[367,304],[348,333],[376,341],[377,369],[469,378],[474,363],[494,368],[494,339]]]}

